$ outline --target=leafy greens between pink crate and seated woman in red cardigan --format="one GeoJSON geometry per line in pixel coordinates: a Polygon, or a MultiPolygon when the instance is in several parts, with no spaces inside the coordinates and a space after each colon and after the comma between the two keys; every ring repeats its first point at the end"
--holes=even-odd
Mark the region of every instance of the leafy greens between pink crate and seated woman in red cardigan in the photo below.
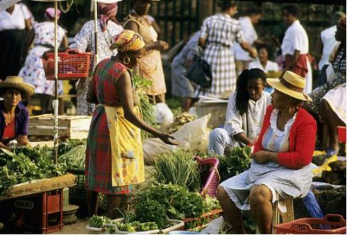
{"type": "Polygon", "coordinates": [[[228,155],[217,156],[219,159],[218,170],[219,175],[221,175],[221,182],[246,171],[251,164],[250,154],[251,148],[244,146],[244,148],[232,148],[228,155]]]}

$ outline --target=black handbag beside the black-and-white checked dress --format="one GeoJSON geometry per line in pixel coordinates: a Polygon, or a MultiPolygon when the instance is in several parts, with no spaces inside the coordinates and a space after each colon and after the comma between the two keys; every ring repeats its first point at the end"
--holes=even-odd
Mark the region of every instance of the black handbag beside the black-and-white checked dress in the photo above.
{"type": "Polygon", "coordinates": [[[201,53],[194,55],[193,62],[187,69],[186,77],[203,88],[210,88],[212,84],[212,71],[210,64],[203,60],[201,53]]]}

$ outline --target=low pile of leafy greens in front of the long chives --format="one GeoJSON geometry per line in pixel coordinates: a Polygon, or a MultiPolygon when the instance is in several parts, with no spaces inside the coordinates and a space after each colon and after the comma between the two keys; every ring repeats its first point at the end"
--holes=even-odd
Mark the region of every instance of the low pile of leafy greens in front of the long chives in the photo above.
{"type": "Polygon", "coordinates": [[[153,221],[159,228],[166,218],[182,220],[200,217],[203,213],[219,208],[215,199],[204,199],[184,186],[154,184],[139,192],[135,199],[135,218],[139,222],[153,221]]]}

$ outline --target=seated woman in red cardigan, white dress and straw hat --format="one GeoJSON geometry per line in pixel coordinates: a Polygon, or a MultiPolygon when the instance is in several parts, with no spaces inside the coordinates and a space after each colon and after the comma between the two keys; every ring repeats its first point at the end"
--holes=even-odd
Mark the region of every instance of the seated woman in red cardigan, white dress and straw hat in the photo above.
{"type": "Polygon", "coordinates": [[[235,234],[245,233],[241,211],[251,214],[262,234],[271,234],[272,204],[280,198],[303,198],[312,183],[316,121],[300,106],[305,78],[291,71],[266,80],[274,89],[251,167],[218,187],[218,200],[235,234]]]}

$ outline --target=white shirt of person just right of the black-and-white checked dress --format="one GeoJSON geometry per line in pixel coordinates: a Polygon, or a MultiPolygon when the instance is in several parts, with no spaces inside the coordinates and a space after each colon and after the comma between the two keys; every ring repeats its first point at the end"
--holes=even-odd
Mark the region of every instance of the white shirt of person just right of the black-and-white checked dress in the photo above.
{"type": "MultiPolygon", "coordinates": [[[[244,33],[244,40],[253,45],[254,41],[257,40],[258,35],[252,24],[250,17],[239,17],[239,24],[241,26],[242,33],[244,33]]],[[[235,45],[235,60],[253,60],[247,51],[244,51],[239,44],[235,45]]]]}

